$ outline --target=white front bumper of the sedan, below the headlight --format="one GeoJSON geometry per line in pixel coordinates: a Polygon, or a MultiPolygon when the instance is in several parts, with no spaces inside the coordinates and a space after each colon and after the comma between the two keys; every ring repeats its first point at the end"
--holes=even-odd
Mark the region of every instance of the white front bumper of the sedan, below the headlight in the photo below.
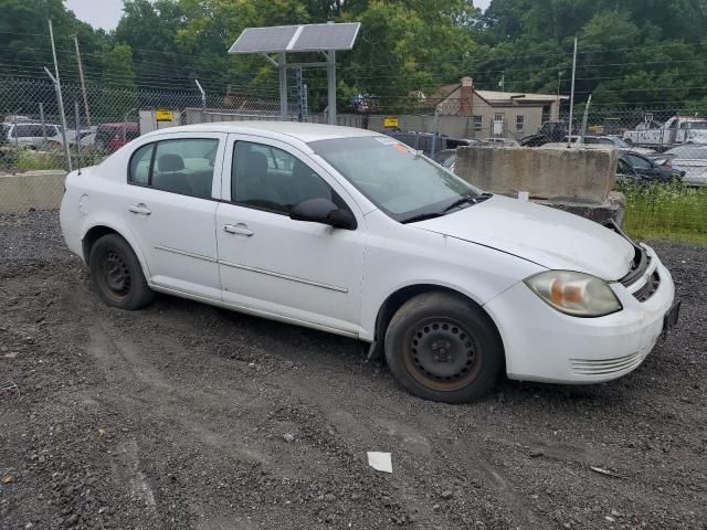
{"type": "Polygon", "coordinates": [[[623,306],[613,315],[563,315],[523,282],[486,304],[504,341],[508,377],[583,384],[618,379],[637,368],[657,342],[675,298],[671,273],[653,250],[647,252],[651,266],[642,278],[630,287],[611,284],[623,306]],[[659,276],[659,285],[650,298],[640,301],[636,297],[654,274],[659,276]]]}

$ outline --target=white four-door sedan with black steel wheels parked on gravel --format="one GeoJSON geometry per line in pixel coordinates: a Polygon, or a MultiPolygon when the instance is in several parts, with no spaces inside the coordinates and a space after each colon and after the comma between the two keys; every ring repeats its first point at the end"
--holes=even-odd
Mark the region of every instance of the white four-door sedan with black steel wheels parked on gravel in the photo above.
{"type": "Polygon", "coordinates": [[[502,372],[624,375],[679,309],[648,246],[355,128],[158,130],[70,173],[61,224],[109,306],[159,292],[354,337],[450,403],[502,372]]]}

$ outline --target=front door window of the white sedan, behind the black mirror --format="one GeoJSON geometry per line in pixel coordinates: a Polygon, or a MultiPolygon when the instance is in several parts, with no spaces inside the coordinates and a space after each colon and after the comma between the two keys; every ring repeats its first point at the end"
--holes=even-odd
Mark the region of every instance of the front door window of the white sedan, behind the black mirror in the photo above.
{"type": "Polygon", "coordinates": [[[341,200],[321,177],[276,147],[236,141],[233,147],[231,201],[288,214],[307,199],[341,200]]]}

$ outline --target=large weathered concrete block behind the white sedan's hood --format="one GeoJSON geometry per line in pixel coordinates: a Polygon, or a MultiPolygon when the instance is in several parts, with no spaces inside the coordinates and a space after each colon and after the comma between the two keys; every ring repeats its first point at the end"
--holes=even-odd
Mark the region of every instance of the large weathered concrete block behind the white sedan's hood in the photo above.
{"type": "Polygon", "coordinates": [[[615,149],[464,147],[455,172],[494,193],[602,203],[615,187],[618,158],[615,149]]]}

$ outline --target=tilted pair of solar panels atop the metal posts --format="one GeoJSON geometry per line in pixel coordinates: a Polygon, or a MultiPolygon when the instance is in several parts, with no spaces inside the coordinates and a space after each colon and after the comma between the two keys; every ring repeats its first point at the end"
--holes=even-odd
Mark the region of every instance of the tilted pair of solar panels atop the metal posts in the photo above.
{"type": "Polygon", "coordinates": [[[361,24],[307,24],[247,28],[229,53],[316,52],[351,50],[361,24]]]}

